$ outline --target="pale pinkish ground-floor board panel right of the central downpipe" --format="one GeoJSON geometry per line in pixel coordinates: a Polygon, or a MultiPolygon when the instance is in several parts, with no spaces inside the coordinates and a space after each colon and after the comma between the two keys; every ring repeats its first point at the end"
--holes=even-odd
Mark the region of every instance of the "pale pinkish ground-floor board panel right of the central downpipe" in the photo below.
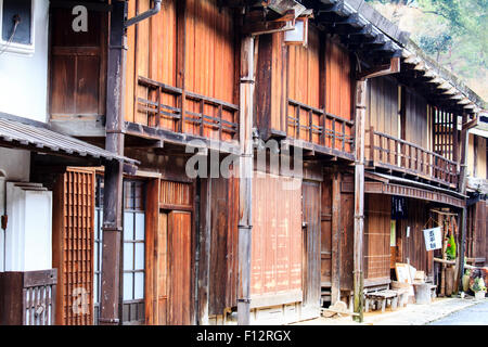
{"type": "Polygon", "coordinates": [[[255,172],[252,296],[301,291],[301,190],[292,178],[255,172]]]}

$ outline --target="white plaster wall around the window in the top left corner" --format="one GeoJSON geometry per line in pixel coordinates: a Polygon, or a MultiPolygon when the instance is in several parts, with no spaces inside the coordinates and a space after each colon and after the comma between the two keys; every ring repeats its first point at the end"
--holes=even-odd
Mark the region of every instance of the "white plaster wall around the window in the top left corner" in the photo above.
{"type": "Polygon", "coordinates": [[[0,55],[0,112],[47,121],[49,1],[33,1],[35,51],[0,55]]]}

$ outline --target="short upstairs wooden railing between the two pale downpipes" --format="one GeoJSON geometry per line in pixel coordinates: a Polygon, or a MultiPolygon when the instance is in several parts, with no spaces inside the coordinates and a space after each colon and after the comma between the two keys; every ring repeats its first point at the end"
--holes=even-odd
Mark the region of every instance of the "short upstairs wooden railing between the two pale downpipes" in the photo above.
{"type": "Polygon", "coordinates": [[[292,99],[288,99],[287,111],[286,133],[288,137],[352,153],[352,120],[292,99]]]}

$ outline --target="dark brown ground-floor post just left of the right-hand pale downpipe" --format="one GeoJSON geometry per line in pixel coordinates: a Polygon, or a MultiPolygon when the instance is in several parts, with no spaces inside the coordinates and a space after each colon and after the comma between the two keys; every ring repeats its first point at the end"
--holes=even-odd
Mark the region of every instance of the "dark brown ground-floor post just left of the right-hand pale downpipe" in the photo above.
{"type": "Polygon", "coordinates": [[[335,169],[332,180],[332,288],[331,304],[341,300],[341,172],[335,169]]]}

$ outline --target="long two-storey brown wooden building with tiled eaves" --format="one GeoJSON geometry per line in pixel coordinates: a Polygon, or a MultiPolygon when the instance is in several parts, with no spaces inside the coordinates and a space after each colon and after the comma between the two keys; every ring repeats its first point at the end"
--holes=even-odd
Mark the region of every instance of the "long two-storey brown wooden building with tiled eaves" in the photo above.
{"type": "Polygon", "coordinates": [[[42,171],[56,324],[281,324],[361,310],[395,262],[437,281],[422,230],[465,210],[484,102],[406,33],[359,0],[79,4],[50,1],[47,117],[106,152],[42,171]]]}

